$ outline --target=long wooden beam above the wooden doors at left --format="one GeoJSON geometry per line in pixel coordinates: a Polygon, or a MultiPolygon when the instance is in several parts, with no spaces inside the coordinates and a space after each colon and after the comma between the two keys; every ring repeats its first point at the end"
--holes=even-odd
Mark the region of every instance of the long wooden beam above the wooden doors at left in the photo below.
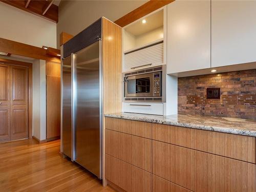
{"type": "Polygon", "coordinates": [[[60,50],[49,48],[48,51],[39,47],[22,44],[21,42],[4,38],[0,38],[0,51],[35,59],[60,62],[60,58],[58,56],[51,55],[51,53],[60,53],[60,50]]]}

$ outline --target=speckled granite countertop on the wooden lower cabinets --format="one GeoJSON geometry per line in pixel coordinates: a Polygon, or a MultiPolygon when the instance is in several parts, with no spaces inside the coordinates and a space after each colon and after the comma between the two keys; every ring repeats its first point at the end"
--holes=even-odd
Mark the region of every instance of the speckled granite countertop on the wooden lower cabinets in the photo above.
{"type": "Polygon", "coordinates": [[[188,127],[193,129],[231,133],[256,137],[256,122],[228,117],[210,117],[201,115],[146,115],[137,113],[106,114],[105,117],[129,119],[150,123],[160,123],[188,127]]]}

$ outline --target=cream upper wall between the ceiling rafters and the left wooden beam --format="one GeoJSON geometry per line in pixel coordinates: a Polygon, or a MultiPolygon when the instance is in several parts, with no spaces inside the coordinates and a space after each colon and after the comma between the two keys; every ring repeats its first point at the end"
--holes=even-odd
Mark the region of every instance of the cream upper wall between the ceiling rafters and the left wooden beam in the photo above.
{"type": "Polygon", "coordinates": [[[56,24],[0,2],[0,37],[36,47],[56,48],[56,24]]]}

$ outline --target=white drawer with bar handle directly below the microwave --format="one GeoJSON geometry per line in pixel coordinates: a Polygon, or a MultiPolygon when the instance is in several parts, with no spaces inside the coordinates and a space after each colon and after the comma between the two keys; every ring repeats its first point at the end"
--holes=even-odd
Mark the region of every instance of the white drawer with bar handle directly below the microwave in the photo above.
{"type": "Polygon", "coordinates": [[[123,112],[163,115],[163,103],[123,102],[123,112]]]}

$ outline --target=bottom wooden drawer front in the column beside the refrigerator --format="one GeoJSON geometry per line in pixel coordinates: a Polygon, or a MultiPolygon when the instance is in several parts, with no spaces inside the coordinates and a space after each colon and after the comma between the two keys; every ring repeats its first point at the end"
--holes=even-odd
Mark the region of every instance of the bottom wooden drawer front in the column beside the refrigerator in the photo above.
{"type": "Polygon", "coordinates": [[[109,155],[105,155],[105,178],[127,192],[151,191],[151,173],[109,155]]]}

